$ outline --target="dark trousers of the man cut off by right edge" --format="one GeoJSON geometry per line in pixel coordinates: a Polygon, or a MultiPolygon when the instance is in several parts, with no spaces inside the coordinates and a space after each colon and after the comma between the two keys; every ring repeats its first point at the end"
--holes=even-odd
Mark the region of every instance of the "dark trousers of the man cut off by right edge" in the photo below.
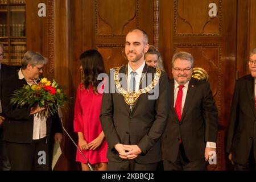
{"type": "Polygon", "coordinates": [[[256,164],[255,164],[253,145],[252,145],[247,162],[245,164],[238,164],[234,162],[234,170],[235,171],[255,171],[255,169],[256,169],[256,164]]]}

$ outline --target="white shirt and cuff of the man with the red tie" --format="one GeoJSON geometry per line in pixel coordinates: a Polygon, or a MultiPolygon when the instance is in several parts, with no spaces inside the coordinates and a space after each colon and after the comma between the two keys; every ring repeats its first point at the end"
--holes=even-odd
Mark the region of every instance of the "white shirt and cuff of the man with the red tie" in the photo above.
{"type": "MultiPolygon", "coordinates": [[[[184,107],[186,96],[187,96],[187,92],[188,92],[188,84],[189,84],[189,81],[184,84],[184,87],[182,89],[183,94],[182,94],[182,103],[181,103],[181,114],[183,113],[183,107],[184,107]]],[[[179,84],[177,83],[176,80],[174,80],[174,107],[175,107],[176,98],[177,98],[177,92],[178,91],[179,91],[179,84]]],[[[206,147],[216,148],[216,142],[207,142],[206,147]]]]}

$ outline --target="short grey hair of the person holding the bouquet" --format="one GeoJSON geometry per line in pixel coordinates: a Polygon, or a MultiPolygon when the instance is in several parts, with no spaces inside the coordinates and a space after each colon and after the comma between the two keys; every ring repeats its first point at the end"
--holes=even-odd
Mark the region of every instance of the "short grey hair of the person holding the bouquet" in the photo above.
{"type": "Polygon", "coordinates": [[[47,64],[48,59],[39,52],[27,51],[22,60],[22,69],[26,69],[28,64],[35,67],[38,64],[47,64]]]}

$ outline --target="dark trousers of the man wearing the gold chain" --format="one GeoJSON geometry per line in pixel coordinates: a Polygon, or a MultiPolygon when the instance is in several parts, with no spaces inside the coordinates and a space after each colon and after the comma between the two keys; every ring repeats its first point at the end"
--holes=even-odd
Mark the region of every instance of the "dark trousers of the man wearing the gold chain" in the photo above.
{"type": "Polygon", "coordinates": [[[123,160],[122,162],[116,163],[109,161],[109,171],[156,171],[158,163],[152,164],[138,164],[134,159],[123,160]]]}

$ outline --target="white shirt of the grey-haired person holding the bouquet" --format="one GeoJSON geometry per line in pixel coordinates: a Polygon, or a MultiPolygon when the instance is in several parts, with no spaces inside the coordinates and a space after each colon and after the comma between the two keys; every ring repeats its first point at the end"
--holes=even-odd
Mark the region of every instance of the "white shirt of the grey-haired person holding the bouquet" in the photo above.
{"type": "MultiPolygon", "coordinates": [[[[19,74],[19,80],[22,80],[24,78],[24,75],[20,68],[18,74],[19,74]]],[[[28,85],[31,86],[30,83],[27,82],[28,85]]],[[[41,138],[46,137],[46,117],[41,117],[39,113],[34,114],[34,124],[33,124],[33,140],[38,140],[41,138]]]]}

